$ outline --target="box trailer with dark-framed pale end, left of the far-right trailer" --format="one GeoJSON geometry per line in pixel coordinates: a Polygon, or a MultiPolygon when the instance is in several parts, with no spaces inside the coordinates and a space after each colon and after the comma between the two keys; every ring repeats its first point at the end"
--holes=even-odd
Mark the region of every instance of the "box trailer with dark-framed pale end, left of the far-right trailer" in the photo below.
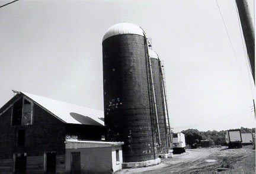
{"type": "Polygon", "coordinates": [[[241,130],[228,130],[226,132],[226,143],[228,144],[229,149],[233,147],[241,148],[242,147],[242,134],[241,130]]]}

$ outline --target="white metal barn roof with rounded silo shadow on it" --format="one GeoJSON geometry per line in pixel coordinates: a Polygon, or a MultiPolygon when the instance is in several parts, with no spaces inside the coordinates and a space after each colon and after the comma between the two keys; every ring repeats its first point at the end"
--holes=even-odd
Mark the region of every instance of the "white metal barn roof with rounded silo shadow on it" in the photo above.
{"type": "Polygon", "coordinates": [[[104,118],[103,111],[57,101],[43,96],[28,94],[26,92],[20,93],[28,96],[28,98],[47,109],[47,111],[51,112],[65,123],[104,125],[104,121],[100,120],[100,118],[104,118]]]}

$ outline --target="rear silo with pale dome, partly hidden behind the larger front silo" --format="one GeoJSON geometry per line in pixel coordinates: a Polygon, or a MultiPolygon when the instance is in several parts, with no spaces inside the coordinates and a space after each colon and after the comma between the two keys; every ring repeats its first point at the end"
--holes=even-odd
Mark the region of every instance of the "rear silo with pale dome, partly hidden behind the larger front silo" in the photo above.
{"type": "MultiPolygon", "coordinates": [[[[161,138],[161,146],[158,146],[158,152],[168,153],[168,136],[167,136],[167,122],[165,118],[164,88],[162,86],[163,82],[162,82],[162,76],[161,76],[162,67],[161,67],[158,54],[156,54],[155,51],[149,50],[149,56],[151,58],[156,107],[158,112],[157,115],[158,115],[158,122],[159,122],[159,133],[161,138]]],[[[155,121],[153,121],[153,123],[155,123],[155,121]]]]}

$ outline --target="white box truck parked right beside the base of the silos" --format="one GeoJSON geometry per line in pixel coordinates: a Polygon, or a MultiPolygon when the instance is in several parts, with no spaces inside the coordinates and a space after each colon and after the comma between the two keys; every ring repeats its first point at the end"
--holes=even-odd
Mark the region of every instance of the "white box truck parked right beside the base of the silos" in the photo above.
{"type": "Polygon", "coordinates": [[[185,136],[183,133],[172,134],[172,153],[185,152],[185,136]]]}

